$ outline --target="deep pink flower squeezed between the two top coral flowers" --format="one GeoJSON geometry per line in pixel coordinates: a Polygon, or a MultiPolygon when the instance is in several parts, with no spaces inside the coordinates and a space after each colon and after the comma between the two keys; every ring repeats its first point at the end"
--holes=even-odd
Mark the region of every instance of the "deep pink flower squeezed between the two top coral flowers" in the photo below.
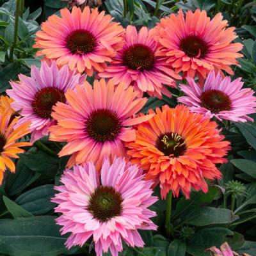
{"type": "Polygon", "coordinates": [[[164,84],[176,87],[173,78],[181,77],[166,64],[166,58],[159,56],[161,50],[151,31],[143,27],[138,33],[136,27],[127,26],[124,41],[124,47],[99,76],[113,77],[115,84],[120,81],[126,86],[132,84],[141,96],[143,92],[159,98],[162,97],[161,93],[171,96],[164,84]]]}

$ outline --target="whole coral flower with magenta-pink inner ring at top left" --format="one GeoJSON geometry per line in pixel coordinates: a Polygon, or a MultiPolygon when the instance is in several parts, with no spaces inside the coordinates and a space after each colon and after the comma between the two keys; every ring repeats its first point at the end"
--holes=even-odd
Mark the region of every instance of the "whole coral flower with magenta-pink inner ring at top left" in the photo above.
{"type": "Polygon", "coordinates": [[[36,33],[34,47],[41,48],[36,55],[56,60],[60,66],[68,64],[70,70],[85,70],[90,76],[93,70],[104,71],[106,62],[122,47],[122,26],[88,6],[83,12],[74,6],[71,13],[67,8],[60,13],[61,17],[49,17],[36,33]]]}

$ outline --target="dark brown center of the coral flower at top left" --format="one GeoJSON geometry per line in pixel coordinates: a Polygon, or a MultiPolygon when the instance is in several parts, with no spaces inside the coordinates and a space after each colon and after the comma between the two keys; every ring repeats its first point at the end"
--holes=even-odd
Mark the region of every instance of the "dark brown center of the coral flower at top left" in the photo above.
{"type": "Polygon", "coordinates": [[[67,47],[73,54],[92,52],[95,46],[95,36],[91,32],[83,29],[72,32],[67,38],[67,47]]]}

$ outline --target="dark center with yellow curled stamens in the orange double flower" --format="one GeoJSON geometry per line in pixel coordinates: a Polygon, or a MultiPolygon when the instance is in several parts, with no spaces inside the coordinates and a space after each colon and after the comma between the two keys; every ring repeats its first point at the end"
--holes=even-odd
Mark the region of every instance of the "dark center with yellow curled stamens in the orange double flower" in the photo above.
{"type": "Polygon", "coordinates": [[[186,152],[185,140],[177,133],[168,132],[161,134],[156,141],[158,150],[164,153],[164,156],[179,157],[186,152]]]}

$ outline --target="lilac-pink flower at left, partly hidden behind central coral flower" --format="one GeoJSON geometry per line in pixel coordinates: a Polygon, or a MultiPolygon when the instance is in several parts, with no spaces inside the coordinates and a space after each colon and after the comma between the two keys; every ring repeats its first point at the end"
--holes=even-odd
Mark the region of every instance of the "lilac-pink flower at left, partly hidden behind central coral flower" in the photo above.
{"type": "Polygon", "coordinates": [[[7,94],[12,97],[12,108],[20,111],[22,118],[17,125],[31,122],[31,142],[48,135],[49,127],[55,124],[51,118],[52,106],[56,102],[66,102],[64,93],[68,88],[75,88],[84,77],[68,70],[65,65],[60,70],[56,62],[42,62],[41,70],[31,66],[31,77],[19,75],[18,82],[12,81],[12,90],[7,94]]]}

